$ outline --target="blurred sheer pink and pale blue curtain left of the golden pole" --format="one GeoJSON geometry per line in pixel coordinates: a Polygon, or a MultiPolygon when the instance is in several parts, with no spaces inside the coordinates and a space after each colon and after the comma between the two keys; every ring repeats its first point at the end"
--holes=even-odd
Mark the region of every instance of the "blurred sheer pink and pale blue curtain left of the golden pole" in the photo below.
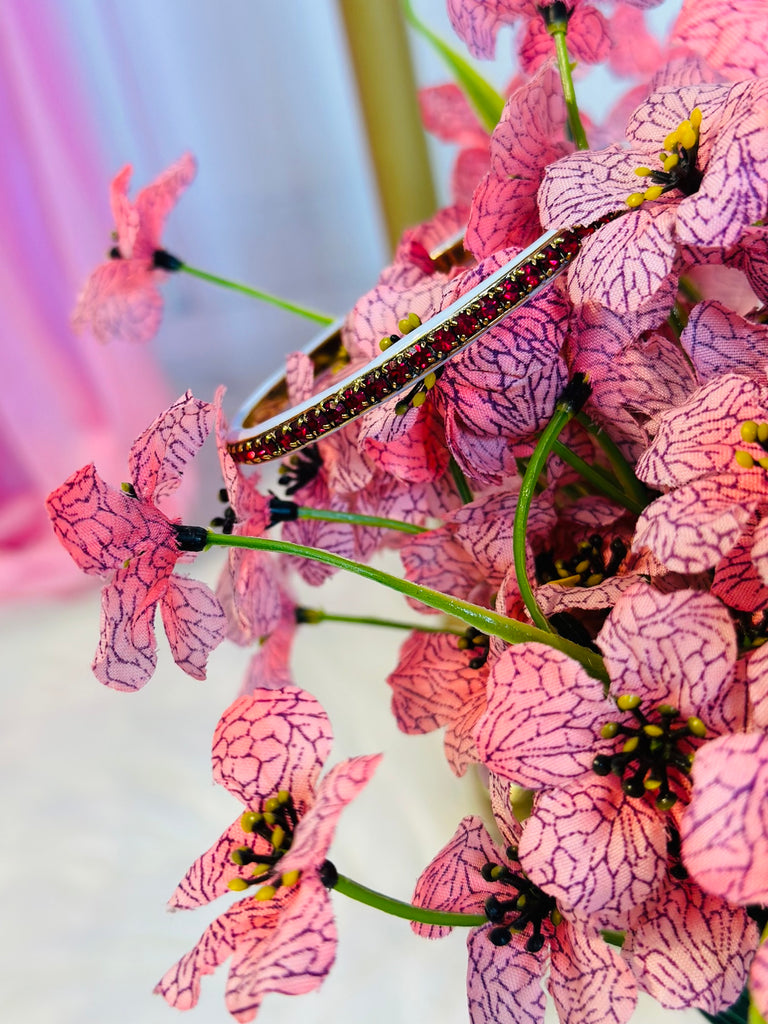
{"type": "Polygon", "coordinates": [[[336,4],[5,0],[0,12],[0,595],[79,574],[53,541],[45,495],[94,461],[126,473],[131,440],[191,387],[240,401],[309,322],[179,275],[145,347],[69,326],[110,245],[108,187],[134,187],[184,151],[196,182],[166,244],[191,265],[331,314],[385,258],[336,4]]]}

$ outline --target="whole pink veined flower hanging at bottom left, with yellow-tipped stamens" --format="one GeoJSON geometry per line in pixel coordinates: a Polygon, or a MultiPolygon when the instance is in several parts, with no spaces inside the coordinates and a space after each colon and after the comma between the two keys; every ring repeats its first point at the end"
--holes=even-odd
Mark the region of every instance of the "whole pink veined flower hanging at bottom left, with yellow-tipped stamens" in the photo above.
{"type": "Polygon", "coordinates": [[[254,886],[255,895],[224,910],[163,976],[155,991],[171,1006],[194,1007],[202,976],[229,956],[225,1000],[239,1021],[253,1020],[267,992],[309,992],[331,970],[336,925],[326,854],[339,815],[381,757],[343,761],[317,784],[332,741],[321,706],[294,687],[255,690],[224,712],[213,775],[246,812],[196,860],[170,906],[201,906],[227,889],[254,886]]]}

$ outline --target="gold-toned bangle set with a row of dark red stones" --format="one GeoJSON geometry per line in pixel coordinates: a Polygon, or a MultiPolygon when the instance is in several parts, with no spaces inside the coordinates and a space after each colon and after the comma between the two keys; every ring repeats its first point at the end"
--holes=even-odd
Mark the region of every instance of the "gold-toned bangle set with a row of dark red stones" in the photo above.
{"type": "MultiPolygon", "coordinates": [[[[286,377],[276,375],[240,410],[227,438],[229,455],[252,466],[281,459],[412,389],[549,285],[570,264],[584,239],[614,216],[547,231],[452,305],[394,340],[362,370],[298,406],[286,409],[286,377]]],[[[343,364],[341,322],[304,352],[314,365],[315,378],[343,364]]]]}

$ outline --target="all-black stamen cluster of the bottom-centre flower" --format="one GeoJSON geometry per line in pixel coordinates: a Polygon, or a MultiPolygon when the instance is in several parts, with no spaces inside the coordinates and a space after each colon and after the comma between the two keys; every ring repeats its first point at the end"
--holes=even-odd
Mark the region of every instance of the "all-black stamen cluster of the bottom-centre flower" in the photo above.
{"type": "MultiPolygon", "coordinates": [[[[513,846],[506,852],[510,860],[517,860],[517,850],[513,846]]],[[[562,921],[554,897],[535,886],[523,871],[516,873],[506,864],[488,861],[480,873],[486,882],[498,882],[506,887],[506,891],[501,890],[499,895],[490,895],[485,900],[485,916],[497,926],[487,933],[490,941],[495,946],[506,946],[513,934],[519,935],[530,927],[525,948],[529,953],[538,953],[545,941],[542,933],[545,922],[557,927],[562,921]]]]}

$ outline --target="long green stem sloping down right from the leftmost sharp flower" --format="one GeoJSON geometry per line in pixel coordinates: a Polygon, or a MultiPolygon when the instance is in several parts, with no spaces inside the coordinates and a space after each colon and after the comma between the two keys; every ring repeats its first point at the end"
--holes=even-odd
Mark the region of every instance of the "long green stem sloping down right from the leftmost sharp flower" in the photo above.
{"type": "Polygon", "coordinates": [[[449,594],[441,594],[429,587],[422,587],[421,584],[412,583],[410,580],[400,580],[373,565],[355,562],[350,558],[344,558],[342,555],[323,551],[319,548],[307,548],[301,544],[274,541],[266,537],[237,537],[233,534],[212,534],[209,530],[207,544],[219,547],[248,548],[252,551],[276,551],[285,555],[294,555],[297,558],[309,558],[316,562],[323,562],[325,565],[333,565],[346,572],[354,572],[366,580],[373,580],[374,583],[397,591],[398,594],[413,597],[430,608],[436,608],[447,615],[453,615],[466,623],[467,626],[473,626],[480,633],[499,637],[507,643],[528,643],[530,641],[546,643],[579,662],[595,679],[600,679],[603,682],[608,681],[603,659],[594,651],[582,647],[581,644],[537,629],[527,623],[519,623],[515,618],[500,615],[498,612],[492,611],[489,608],[482,608],[478,604],[471,604],[469,601],[463,601],[461,598],[452,597],[449,594]]]}

